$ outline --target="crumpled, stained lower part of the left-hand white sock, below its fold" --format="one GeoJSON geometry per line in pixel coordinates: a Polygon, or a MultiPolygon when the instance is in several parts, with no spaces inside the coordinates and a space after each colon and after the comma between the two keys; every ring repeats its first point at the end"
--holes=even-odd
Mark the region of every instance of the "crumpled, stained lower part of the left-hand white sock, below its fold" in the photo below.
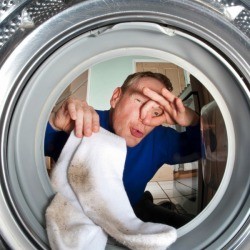
{"type": "Polygon", "coordinates": [[[106,233],[60,193],[55,195],[45,216],[51,249],[105,249],[106,233]]]}

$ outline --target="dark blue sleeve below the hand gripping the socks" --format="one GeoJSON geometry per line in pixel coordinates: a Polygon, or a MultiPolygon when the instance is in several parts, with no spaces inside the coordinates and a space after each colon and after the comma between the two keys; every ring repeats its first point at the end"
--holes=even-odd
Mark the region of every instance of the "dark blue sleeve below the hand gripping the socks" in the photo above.
{"type": "Polygon", "coordinates": [[[64,131],[56,131],[51,125],[47,124],[44,140],[44,154],[52,157],[55,161],[58,159],[69,134],[64,131]]]}

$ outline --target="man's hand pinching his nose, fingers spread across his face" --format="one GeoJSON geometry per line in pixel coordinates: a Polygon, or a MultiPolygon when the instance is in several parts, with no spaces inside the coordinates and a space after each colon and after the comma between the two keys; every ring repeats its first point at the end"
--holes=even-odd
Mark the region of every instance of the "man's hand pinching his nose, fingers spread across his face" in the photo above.
{"type": "Polygon", "coordinates": [[[162,89],[161,95],[149,88],[144,88],[143,94],[150,98],[150,101],[141,110],[141,119],[144,124],[159,126],[167,123],[187,127],[196,125],[199,122],[199,115],[192,109],[185,107],[182,100],[166,88],[162,89]],[[155,116],[148,115],[150,110],[155,108],[156,105],[159,105],[162,112],[158,112],[155,116]]]}

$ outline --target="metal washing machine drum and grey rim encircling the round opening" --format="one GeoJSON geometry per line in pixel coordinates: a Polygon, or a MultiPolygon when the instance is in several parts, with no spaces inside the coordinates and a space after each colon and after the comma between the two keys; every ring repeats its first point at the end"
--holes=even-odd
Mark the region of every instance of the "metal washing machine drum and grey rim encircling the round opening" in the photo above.
{"type": "Polygon", "coordinates": [[[2,247],[49,249],[44,213],[54,192],[43,151],[49,114],[82,72],[124,56],[153,57],[190,72],[213,96],[227,130],[219,189],[178,229],[171,249],[247,246],[249,1],[6,0],[0,22],[2,247]]]}

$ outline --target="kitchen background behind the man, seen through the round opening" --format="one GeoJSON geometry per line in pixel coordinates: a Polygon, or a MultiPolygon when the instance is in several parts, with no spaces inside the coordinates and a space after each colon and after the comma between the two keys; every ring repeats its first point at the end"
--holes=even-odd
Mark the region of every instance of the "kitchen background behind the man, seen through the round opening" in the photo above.
{"type": "MultiPolygon", "coordinates": [[[[100,62],[79,75],[64,90],[53,110],[69,97],[86,100],[98,110],[109,109],[109,98],[127,75],[138,71],[165,74],[174,94],[201,115],[201,134],[205,138],[204,156],[192,163],[164,164],[148,183],[155,204],[172,202],[175,211],[196,216],[211,201],[223,178],[227,160],[227,134],[222,114],[212,95],[194,76],[179,66],[148,57],[119,57],[100,62]]],[[[166,125],[168,126],[168,125],[166,125]]],[[[184,128],[174,126],[178,131],[184,128]]],[[[50,172],[53,162],[46,157],[50,172]]]]}

